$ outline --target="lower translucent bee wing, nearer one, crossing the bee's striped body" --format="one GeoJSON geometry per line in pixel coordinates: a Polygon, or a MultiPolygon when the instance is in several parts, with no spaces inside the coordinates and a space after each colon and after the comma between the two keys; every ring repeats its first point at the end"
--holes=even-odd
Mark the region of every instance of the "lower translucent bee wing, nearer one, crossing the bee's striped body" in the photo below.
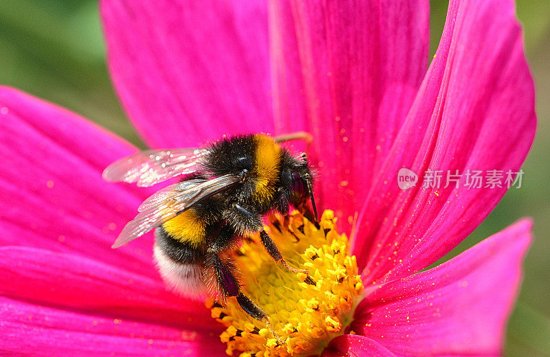
{"type": "Polygon", "coordinates": [[[118,248],[151,229],[159,227],[164,222],[174,218],[195,205],[200,200],[224,191],[241,182],[239,176],[225,175],[216,179],[194,179],[175,183],[153,196],[147,198],[140,205],[140,214],[128,222],[115,240],[113,248],[118,248]]]}

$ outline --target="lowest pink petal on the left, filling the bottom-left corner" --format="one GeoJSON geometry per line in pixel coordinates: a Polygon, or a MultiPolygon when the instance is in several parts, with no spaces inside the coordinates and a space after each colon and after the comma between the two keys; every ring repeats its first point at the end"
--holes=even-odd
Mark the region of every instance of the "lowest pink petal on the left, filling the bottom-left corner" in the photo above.
{"type": "Polygon", "coordinates": [[[217,335],[0,297],[7,356],[225,356],[217,335]]]}

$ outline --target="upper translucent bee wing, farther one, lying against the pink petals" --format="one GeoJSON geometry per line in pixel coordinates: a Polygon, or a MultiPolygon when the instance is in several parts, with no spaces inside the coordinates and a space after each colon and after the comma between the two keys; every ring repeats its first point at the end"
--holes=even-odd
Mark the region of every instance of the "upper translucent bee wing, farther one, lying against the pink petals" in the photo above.
{"type": "Polygon", "coordinates": [[[111,163],[104,170],[103,178],[148,187],[196,172],[200,168],[200,159],[208,152],[208,149],[144,150],[111,163]]]}

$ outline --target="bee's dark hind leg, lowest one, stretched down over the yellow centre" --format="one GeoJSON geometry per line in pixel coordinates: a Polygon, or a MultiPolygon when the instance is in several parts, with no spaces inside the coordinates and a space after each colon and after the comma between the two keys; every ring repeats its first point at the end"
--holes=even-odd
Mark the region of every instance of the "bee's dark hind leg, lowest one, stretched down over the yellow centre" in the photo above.
{"type": "Polygon", "coordinates": [[[220,292],[223,293],[225,297],[235,297],[236,302],[239,303],[244,312],[256,320],[263,321],[277,341],[284,343],[284,341],[281,340],[281,338],[273,330],[270,323],[270,318],[267,316],[265,311],[263,311],[262,308],[254,303],[254,301],[241,292],[239,281],[237,281],[228,265],[221,260],[217,253],[212,253],[212,260],[214,262],[214,271],[216,273],[216,279],[220,292]]]}

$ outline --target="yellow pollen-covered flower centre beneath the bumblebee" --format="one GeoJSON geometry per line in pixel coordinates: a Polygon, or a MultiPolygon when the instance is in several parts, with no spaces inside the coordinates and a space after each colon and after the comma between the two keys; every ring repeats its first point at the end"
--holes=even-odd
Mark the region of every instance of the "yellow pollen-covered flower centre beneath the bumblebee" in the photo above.
{"type": "Polygon", "coordinates": [[[225,307],[209,301],[212,317],[227,327],[221,341],[227,343],[228,355],[311,356],[344,333],[363,285],[348,238],[336,231],[333,212],[325,211],[319,225],[317,229],[294,212],[287,224],[277,216],[265,227],[289,265],[307,269],[309,277],[274,262],[259,237],[243,243],[234,257],[243,293],[267,313],[279,339],[234,299],[225,307]]]}

